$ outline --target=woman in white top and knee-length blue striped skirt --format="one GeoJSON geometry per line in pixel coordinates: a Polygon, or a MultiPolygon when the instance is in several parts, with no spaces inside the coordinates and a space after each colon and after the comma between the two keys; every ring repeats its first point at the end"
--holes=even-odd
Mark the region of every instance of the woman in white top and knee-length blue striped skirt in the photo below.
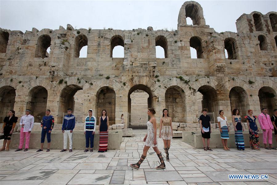
{"type": "Polygon", "coordinates": [[[229,128],[227,125],[227,117],[223,116],[224,115],[224,111],[220,110],[219,111],[219,117],[217,117],[217,123],[219,126],[219,130],[220,130],[220,134],[221,134],[221,142],[223,144],[223,150],[230,150],[227,146],[227,139],[229,139],[229,128]]]}

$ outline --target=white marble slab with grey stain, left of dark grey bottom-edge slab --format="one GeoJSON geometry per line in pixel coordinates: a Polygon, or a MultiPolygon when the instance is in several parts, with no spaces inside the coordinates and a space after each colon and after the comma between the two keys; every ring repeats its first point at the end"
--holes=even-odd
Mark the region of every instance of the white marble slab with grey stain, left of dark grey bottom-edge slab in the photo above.
{"type": "Polygon", "coordinates": [[[111,174],[76,174],[67,184],[109,184],[111,174]]]}

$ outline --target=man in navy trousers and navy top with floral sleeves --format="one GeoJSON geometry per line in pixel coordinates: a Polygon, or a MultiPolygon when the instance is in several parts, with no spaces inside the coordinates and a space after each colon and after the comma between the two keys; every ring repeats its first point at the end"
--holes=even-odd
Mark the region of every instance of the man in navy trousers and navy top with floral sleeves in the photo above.
{"type": "Polygon", "coordinates": [[[51,131],[54,128],[54,117],[50,115],[50,110],[46,110],[46,115],[42,117],[42,120],[40,122],[40,125],[42,127],[41,131],[41,144],[40,149],[37,150],[37,152],[40,152],[43,150],[43,144],[45,140],[45,135],[47,136],[47,150],[46,152],[50,151],[50,144],[51,144],[51,131]]]}

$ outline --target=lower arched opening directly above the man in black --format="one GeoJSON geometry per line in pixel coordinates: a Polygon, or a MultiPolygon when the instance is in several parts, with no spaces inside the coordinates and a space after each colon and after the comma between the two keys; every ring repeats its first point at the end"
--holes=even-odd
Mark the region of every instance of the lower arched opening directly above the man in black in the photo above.
{"type": "MultiPolygon", "coordinates": [[[[215,115],[217,115],[219,110],[217,110],[218,97],[215,88],[211,87],[210,85],[203,85],[198,89],[198,92],[201,93],[197,96],[197,100],[199,102],[198,104],[201,102],[201,109],[206,108],[208,109],[208,112],[215,112],[215,115]]],[[[202,112],[202,110],[200,112],[202,112]]]]}

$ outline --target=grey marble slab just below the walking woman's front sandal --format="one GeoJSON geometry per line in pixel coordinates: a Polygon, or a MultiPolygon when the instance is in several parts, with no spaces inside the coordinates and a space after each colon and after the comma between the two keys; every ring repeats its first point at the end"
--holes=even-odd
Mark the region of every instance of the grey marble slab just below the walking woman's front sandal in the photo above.
{"type": "Polygon", "coordinates": [[[153,181],[181,181],[177,171],[149,171],[145,173],[147,182],[153,181]]]}

